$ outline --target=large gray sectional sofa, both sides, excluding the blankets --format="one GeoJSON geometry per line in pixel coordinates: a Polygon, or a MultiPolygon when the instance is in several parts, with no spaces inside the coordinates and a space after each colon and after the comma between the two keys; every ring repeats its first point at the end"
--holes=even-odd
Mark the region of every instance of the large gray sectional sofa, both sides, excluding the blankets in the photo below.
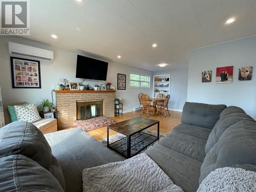
{"type": "MultiPolygon", "coordinates": [[[[256,172],[256,122],[242,109],[186,102],[181,122],[146,154],[184,191],[219,167],[256,172]]],[[[0,129],[0,191],[82,191],[84,168],[121,160],[79,128],[43,135],[22,121],[0,129]]]]}

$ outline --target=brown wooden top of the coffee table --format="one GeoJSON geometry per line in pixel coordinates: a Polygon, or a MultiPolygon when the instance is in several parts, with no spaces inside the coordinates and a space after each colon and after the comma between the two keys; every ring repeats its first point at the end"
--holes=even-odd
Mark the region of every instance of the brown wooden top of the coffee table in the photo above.
{"type": "Polygon", "coordinates": [[[154,124],[157,124],[159,121],[145,118],[145,117],[135,117],[125,121],[121,121],[115,124],[108,126],[109,129],[114,130],[118,133],[121,133],[126,136],[131,136],[135,133],[138,133],[154,124]]]}

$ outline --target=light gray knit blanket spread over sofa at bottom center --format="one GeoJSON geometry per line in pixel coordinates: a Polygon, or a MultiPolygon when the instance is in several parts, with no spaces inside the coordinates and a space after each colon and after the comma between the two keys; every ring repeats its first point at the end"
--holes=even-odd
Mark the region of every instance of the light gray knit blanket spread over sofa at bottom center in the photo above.
{"type": "Polygon", "coordinates": [[[144,153],[125,161],[86,168],[82,180],[84,192],[183,191],[144,153]]]}

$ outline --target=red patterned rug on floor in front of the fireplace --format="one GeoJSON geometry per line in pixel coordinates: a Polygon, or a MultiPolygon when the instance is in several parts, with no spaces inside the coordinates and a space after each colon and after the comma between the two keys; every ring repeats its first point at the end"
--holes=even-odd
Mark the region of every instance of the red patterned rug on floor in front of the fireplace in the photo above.
{"type": "Polygon", "coordinates": [[[95,117],[87,120],[77,120],[75,121],[75,123],[77,127],[80,127],[83,131],[88,132],[91,130],[99,129],[104,126],[112,125],[116,123],[116,121],[108,117],[100,116],[100,117],[95,117]]]}

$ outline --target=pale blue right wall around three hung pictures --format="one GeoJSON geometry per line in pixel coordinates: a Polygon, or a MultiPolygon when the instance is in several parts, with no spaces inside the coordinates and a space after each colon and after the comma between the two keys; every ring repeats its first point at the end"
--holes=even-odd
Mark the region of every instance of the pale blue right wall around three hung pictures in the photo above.
{"type": "Polygon", "coordinates": [[[236,105],[256,119],[256,36],[189,52],[187,100],[236,105]],[[234,66],[233,82],[217,84],[216,68],[234,66]],[[253,67],[252,80],[239,81],[240,67],[253,67]],[[201,73],[212,70],[212,81],[202,83],[201,73]]]}

